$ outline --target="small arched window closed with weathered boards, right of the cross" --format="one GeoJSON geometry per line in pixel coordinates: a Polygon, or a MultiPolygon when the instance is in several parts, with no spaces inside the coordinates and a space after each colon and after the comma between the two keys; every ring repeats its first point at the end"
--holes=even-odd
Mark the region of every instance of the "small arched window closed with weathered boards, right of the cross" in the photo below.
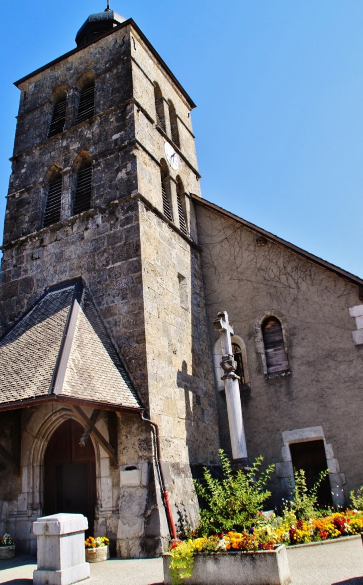
{"type": "Polygon", "coordinates": [[[273,316],[266,318],[262,323],[261,329],[263,345],[265,346],[267,373],[273,374],[289,370],[285,340],[283,339],[279,319],[273,316]]]}

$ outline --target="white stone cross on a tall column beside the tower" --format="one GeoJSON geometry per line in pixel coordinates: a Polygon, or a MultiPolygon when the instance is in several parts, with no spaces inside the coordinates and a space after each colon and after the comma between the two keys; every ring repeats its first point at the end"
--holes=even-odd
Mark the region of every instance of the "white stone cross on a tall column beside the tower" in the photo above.
{"type": "Polygon", "coordinates": [[[231,335],[233,327],[228,322],[226,311],[218,313],[214,328],[220,332],[222,342],[221,368],[224,370],[225,398],[227,400],[228,425],[232,445],[232,464],[235,469],[248,469],[245,429],[242,419],[241,397],[239,396],[239,376],[235,373],[237,362],[232,353],[231,335]]]}

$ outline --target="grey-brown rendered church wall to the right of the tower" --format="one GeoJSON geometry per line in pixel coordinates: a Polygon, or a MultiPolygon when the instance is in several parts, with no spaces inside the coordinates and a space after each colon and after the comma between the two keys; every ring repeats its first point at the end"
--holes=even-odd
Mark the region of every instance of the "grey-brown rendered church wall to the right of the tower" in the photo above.
{"type": "MultiPolygon", "coordinates": [[[[323,439],[341,503],[341,490],[347,497],[363,484],[363,354],[354,345],[349,312],[359,302],[358,285],[211,209],[196,204],[196,211],[210,338],[217,342],[213,319],[225,310],[246,345],[249,384],[241,401],[249,459],[261,453],[266,464],[278,463],[276,503],[287,495],[292,474],[283,433],[295,430],[294,440],[323,439]],[[287,376],[265,373],[260,324],[270,314],[279,316],[285,331],[287,376]]],[[[222,394],[217,409],[222,446],[230,452],[222,394]]]]}

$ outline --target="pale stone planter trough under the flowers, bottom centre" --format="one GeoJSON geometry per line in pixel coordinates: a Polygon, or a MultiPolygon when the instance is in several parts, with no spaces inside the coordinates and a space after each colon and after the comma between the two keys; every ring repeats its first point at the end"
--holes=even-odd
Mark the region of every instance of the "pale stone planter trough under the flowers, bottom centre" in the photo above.
{"type": "MultiPolygon", "coordinates": [[[[163,557],[164,582],[170,585],[170,555],[163,557]]],[[[193,574],[183,585],[290,585],[290,569],[285,545],[261,552],[221,552],[199,554],[193,574]]]]}

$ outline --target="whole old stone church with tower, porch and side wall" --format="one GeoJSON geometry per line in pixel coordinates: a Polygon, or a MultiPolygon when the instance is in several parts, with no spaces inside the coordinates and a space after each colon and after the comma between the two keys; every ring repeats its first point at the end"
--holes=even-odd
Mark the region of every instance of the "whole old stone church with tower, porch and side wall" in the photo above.
{"type": "MultiPolygon", "coordinates": [[[[132,19],[16,82],[0,274],[0,534],[87,516],[121,558],[195,526],[193,478],[262,454],[363,484],[363,279],[201,198],[192,99],[132,19]]],[[[222,194],[221,194],[222,195],[222,194]]]]}

